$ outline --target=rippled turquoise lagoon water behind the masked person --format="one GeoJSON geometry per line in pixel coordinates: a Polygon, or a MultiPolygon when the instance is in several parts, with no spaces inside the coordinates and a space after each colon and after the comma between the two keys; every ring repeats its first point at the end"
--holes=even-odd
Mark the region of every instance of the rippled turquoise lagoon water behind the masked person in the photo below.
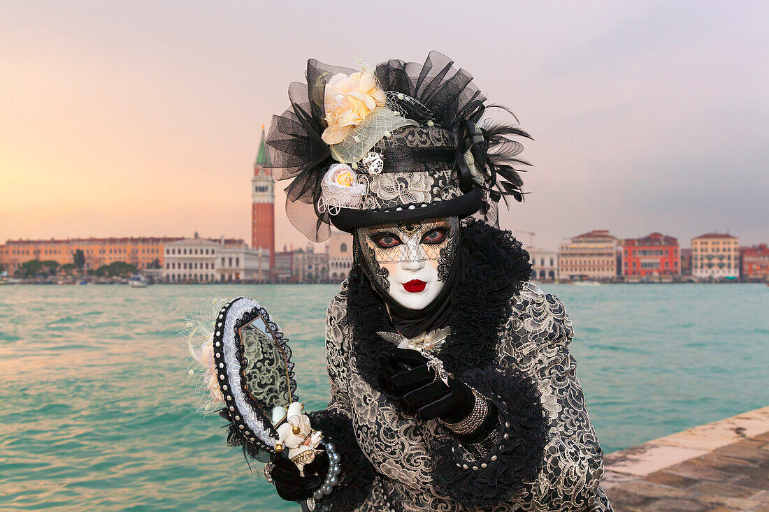
{"type": "MultiPolygon", "coordinates": [[[[574,320],[605,451],[769,404],[766,286],[543,288],[574,320]]],[[[225,446],[221,418],[195,411],[176,333],[206,298],[261,301],[290,339],[299,397],[320,408],[337,289],[0,288],[0,509],[286,510],[225,446]]]]}

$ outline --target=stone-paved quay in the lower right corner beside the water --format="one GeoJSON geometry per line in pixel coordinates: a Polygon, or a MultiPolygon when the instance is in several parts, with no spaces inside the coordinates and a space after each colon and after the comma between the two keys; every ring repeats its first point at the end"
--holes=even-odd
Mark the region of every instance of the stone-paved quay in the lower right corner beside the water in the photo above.
{"type": "Polygon", "coordinates": [[[616,512],[769,512],[769,407],[604,457],[616,512]]]}

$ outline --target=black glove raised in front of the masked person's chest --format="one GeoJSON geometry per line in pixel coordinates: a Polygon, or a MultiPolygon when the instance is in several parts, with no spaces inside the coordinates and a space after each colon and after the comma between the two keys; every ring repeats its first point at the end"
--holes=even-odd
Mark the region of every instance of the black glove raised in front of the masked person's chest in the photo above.
{"type": "Polygon", "coordinates": [[[377,361],[384,371],[384,391],[422,421],[437,417],[457,423],[471,413],[475,398],[470,387],[454,377],[448,378],[448,386],[436,379],[418,351],[396,348],[393,354],[379,354],[377,361]]]}

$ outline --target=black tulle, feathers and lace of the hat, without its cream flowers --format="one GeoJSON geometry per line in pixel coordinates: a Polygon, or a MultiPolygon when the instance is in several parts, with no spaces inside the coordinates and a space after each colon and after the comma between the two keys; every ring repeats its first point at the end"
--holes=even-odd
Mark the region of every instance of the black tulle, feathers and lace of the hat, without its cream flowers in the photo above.
{"type": "MultiPolygon", "coordinates": [[[[387,98],[386,105],[377,108],[386,107],[413,125],[384,132],[371,148],[384,158],[381,175],[363,172],[362,158],[348,162],[357,169],[358,185],[368,181],[359,206],[328,208],[323,180],[331,165],[338,163],[335,158],[341,157],[322,136],[328,128],[325,89],[338,73],[355,72],[310,59],[306,83],[291,84],[291,108],[273,117],[268,132],[265,168],[271,168],[278,181],[291,180],[285,188],[286,214],[311,241],[326,240],[331,223],[351,233],[371,224],[448,215],[465,218],[480,211],[485,221],[498,225],[500,199],[505,203],[508,196],[523,200],[518,166],[528,164],[518,157],[523,146],[512,139],[529,135],[518,128],[514,116],[499,122],[484,118],[486,109],[494,105],[485,104],[486,97],[472,75],[454,67],[451,58],[430,52],[424,64],[392,59],[371,70],[387,98]],[[408,193],[397,198],[389,192],[384,194],[387,198],[372,194],[371,185],[387,188],[380,181],[404,181],[408,193]],[[427,182],[431,185],[426,188],[427,182]]],[[[348,135],[356,136],[355,131],[348,135]]]]}

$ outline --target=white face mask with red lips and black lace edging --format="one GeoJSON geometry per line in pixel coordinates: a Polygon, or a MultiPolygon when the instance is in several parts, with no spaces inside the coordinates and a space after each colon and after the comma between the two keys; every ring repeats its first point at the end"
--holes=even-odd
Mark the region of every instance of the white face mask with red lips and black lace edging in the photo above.
{"type": "Polygon", "coordinates": [[[404,308],[420,310],[438,297],[454,262],[457,217],[358,229],[358,243],[377,284],[404,308]]]}

